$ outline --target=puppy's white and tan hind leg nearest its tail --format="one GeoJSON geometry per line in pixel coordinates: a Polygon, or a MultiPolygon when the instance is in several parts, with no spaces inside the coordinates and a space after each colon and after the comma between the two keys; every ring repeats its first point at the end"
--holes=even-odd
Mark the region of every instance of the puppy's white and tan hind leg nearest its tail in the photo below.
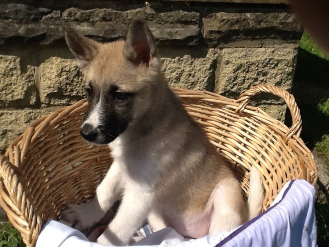
{"type": "Polygon", "coordinates": [[[214,189],[209,235],[230,231],[247,221],[248,207],[234,178],[222,179],[214,189]]]}

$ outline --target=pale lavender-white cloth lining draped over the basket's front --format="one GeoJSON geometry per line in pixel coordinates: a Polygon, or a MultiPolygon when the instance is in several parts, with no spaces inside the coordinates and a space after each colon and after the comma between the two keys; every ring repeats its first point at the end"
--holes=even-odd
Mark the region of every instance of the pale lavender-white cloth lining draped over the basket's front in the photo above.
{"type": "MultiPolygon", "coordinates": [[[[230,231],[216,236],[190,240],[172,228],[153,233],[134,246],[176,247],[315,247],[317,226],[315,221],[315,189],[304,180],[288,182],[271,207],[230,231]]],[[[49,220],[43,227],[36,247],[103,247],[88,242],[77,230],[49,220]]]]}

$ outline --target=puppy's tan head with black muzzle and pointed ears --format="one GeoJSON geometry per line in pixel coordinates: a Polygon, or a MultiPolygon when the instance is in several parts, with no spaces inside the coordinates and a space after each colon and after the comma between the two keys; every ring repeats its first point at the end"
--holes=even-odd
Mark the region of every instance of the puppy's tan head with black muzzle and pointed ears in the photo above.
{"type": "Polygon", "coordinates": [[[108,144],[152,104],[152,84],[160,74],[153,35],[140,19],[131,22],[126,41],[100,43],[65,26],[66,42],[86,78],[88,112],[84,139],[108,144]]]}

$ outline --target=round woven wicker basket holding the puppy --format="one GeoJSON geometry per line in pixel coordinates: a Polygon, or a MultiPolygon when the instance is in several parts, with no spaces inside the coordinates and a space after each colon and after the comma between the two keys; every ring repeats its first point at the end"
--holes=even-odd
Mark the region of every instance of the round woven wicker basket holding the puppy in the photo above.
{"type": "MultiPolygon", "coordinates": [[[[252,165],[260,170],[266,190],[264,210],[287,181],[316,184],[317,167],[299,137],[301,116],[288,92],[261,85],[232,100],[210,92],[175,91],[211,143],[233,162],[246,195],[248,171],[252,165]],[[286,101],[291,128],[247,106],[249,98],[261,92],[286,101]]],[[[0,205],[28,247],[35,246],[42,223],[56,219],[66,204],[91,199],[112,163],[107,147],[90,146],[80,136],[86,109],[86,100],[81,100],[41,117],[0,157],[0,205]]]]}

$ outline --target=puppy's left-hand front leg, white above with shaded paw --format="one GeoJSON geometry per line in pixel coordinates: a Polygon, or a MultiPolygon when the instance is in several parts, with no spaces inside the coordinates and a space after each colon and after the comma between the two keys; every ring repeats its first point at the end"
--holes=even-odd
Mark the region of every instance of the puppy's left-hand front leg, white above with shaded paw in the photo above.
{"type": "Polygon", "coordinates": [[[121,198],[121,170],[114,162],[104,180],[97,187],[96,196],[80,205],[69,205],[61,212],[61,221],[77,230],[85,232],[111,209],[121,198]]]}

